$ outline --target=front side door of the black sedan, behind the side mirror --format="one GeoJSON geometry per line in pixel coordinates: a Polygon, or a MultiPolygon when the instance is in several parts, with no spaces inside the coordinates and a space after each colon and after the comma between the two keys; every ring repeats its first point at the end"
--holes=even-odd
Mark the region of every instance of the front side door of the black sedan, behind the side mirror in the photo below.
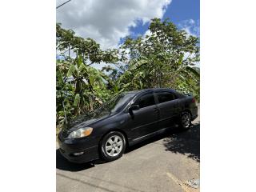
{"type": "Polygon", "coordinates": [[[146,134],[154,132],[160,118],[158,106],[155,104],[153,92],[142,94],[135,99],[133,105],[140,108],[131,112],[128,122],[134,139],[143,138],[146,134]]]}

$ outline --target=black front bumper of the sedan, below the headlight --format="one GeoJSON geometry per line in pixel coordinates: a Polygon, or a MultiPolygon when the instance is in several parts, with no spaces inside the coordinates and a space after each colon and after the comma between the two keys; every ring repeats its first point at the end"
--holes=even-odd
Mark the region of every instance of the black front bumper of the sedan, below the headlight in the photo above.
{"type": "Polygon", "coordinates": [[[59,151],[70,162],[84,163],[98,159],[98,145],[90,145],[86,139],[60,140],[58,138],[59,151]],[[75,155],[77,153],[82,153],[75,155]]]}

